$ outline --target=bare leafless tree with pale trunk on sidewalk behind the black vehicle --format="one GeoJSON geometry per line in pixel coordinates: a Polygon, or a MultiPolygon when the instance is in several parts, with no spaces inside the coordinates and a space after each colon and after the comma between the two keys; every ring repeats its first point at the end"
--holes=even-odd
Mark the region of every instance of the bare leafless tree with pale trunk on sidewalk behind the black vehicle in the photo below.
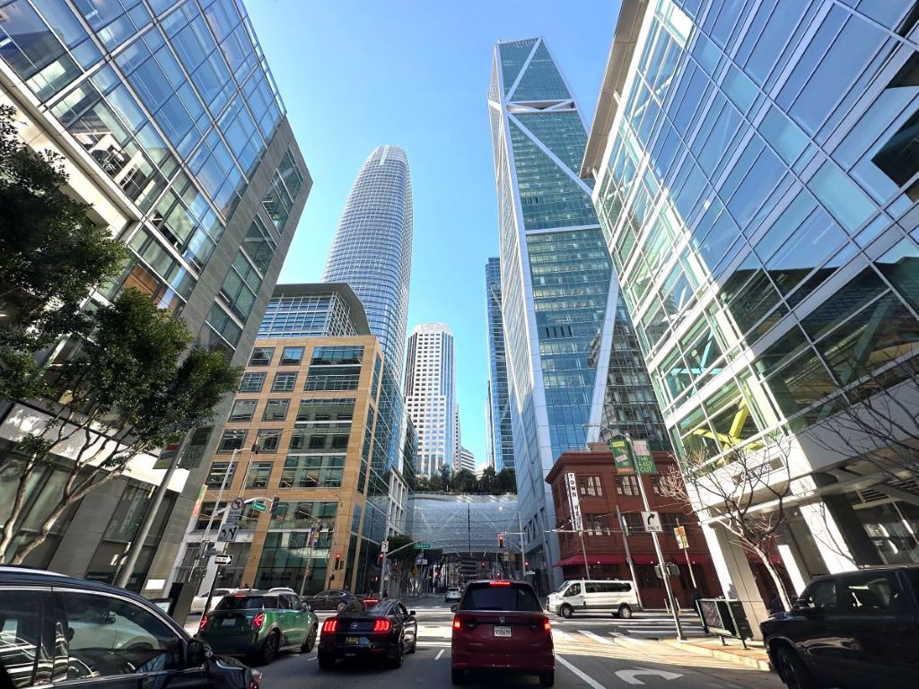
{"type": "MultiPolygon", "coordinates": [[[[773,446],[773,454],[776,449],[773,446]]],[[[788,521],[785,501],[791,476],[788,453],[783,455],[776,469],[775,457],[763,451],[732,447],[713,459],[704,449],[693,449],[679,460],[678,469],[661,477],[661,492],[707,511],[744,550],[760,559],[788,610],[789,593],[769,558],[777,531],[788,521]],[[763,503],[770,504],[768,512],[757,509],[763,503]]]]}

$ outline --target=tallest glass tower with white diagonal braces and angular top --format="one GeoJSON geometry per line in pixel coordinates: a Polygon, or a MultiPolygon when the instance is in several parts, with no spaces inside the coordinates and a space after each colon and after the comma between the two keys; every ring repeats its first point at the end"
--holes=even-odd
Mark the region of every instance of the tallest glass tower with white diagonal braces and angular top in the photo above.
{"type": "Polygon", "coordinates": [[[488,107],[521,520],[537,581],[554,587],[562,570],[545,477],[562,452],[600,435],[614,330],[630,326],[617,322],[591,186],[577,175],[584,120],[543,40],[495,46],[488,107]]]}

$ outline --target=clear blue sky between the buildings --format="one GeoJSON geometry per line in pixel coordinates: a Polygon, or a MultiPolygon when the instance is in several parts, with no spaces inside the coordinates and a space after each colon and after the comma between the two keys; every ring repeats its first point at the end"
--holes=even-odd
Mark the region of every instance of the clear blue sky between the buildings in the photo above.
{"type": "Polygon", "coordinates": [[[456,335],[463,445],[485,458],[484,265],[497,255],[485,91],[496,40],[542,36],[589,121],[618,0],[247,0],[313,178],[281,272],[318,281],[357,171],[408,153],[414,192],[409,331],[456,335]]]}

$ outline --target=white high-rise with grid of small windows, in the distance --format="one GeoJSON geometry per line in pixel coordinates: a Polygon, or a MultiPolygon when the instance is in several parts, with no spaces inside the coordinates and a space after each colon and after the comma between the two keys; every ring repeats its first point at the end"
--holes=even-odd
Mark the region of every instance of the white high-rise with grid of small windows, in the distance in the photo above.
{"type": "Polygon", "coordinates": [[[421,323],[408,339],[405,406],[418,434],[417,473],[453,468],[457,455],[456,361],[444,323],[421,323]]]}

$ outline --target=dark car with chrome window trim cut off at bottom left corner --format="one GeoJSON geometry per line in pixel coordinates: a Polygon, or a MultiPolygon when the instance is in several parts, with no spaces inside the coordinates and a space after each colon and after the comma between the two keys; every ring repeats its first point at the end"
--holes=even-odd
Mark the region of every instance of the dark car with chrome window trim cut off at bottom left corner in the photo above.
{"type": "Polygon", "coordinates": [[[0,686],[104,689],[127,685],[126,675],[137,686],[257,689],[261,681],[139,595],[104,583],[0,566],[0,620],[0,686]]]}

